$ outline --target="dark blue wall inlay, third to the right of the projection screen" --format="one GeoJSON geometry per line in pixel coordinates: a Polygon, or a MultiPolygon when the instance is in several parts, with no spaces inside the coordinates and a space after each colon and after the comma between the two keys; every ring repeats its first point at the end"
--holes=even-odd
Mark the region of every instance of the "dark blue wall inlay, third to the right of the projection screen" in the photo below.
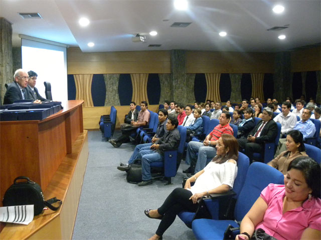
{"type": "MultiPolygon", "coordinates": [[[[129,105],[132,97],[132,84],[130,74],[120,74],[118,82],[118,95],[120,105],[129,105]]],[[[139,104],[139,102],[136,102],[139,104]]]]}

